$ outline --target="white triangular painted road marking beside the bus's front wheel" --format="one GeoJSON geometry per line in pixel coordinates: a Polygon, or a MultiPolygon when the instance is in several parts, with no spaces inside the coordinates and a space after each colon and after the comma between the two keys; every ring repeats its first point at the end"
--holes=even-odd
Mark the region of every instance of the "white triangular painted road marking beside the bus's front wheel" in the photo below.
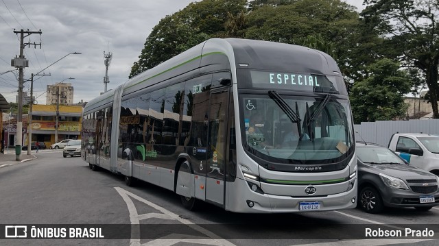
{"type": "MultiPolygon", "coordinates": [[[[204,245],[226,245],[226,246],[235,246],[233,243],[230,243],[229,241],[226,241],[225,239],[217,239],[220,238],[213,232],[204,229],[203,227],[200,227],[200,225],[195,225],[188,219],[183,219],[179,217],[177,214],[174,214],[173,212],[167,210],[166,208],[162,208],[161,206],[158,206],[151,201],[148,201],[146,199],[143,199],[142,197],[139,197],[138,195],[135,195],[133,193],[130,193],[128,190],[124,190],[120,187],[115,187],[117,190],[117,193],[121,195],[123,201],[125,201],[128,212],[130,212],[130,221],[132,225],[139,225],[140,221],[143,219],[150,219],[150,218],[160,218],[160,219],[172,219],[176,221],[180,221],[180,223],[183,223],[189,227],[191,227],[193,230],[196,230],[204,235],[206,235],[208,238],[194,238],[194,236],[185,235],[185,237],[182,237],[182,239],[167,239],[159,238],[154,241],[150,241],[148,243],[144,243],[143,245],[150,245],[150,246],[156,246],[156,245],[174,245],[176,243],[185,242],[185,243],[196,243],[196,244],[204,244],[204,245]],[[150,206],[152,208],[155,208],[156,210],[162,212],[163,214],[158,213],[148,213],[148,214],[138,214],[136,206],[134,206],[134,202],[130,198],[134,198],[137,201],[143,202],[143,204],[146,204],[147,206],[150,206]],[[188,238],[189,237],[189,238],[188,238]]],[[[175,234],[173,234],[175,235],[175,234]]],[[[170,235],[168,235],[169,237],[170,235]]],[[[131,230],[131,239],[130,239],[130,246],[140,246],[140,228],[137,227],[137,229],[131,230]],[[138,239],[139,238],[139,239],[138,239]]]]}

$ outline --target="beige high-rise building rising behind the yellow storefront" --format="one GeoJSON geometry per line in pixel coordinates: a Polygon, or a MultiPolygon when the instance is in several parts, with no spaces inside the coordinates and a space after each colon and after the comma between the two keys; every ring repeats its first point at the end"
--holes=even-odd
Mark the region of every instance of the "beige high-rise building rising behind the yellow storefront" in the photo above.
{"type": "Polygon", "coordinates": [[[73,86],[70,83],[58,83],[47,86],[46,104],[72,104],[73,86]]]}

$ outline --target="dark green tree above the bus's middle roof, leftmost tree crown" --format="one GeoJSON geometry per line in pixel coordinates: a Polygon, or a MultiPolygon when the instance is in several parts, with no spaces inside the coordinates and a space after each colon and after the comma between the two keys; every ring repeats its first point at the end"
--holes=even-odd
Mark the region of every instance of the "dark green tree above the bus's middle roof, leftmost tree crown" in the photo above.
{"type": "Polygon", "coordinates": [[[226,37],[228,34],[242,36],[239,30],[230,28],[244,27],[246,4],[246,0],[204,0],[190,3],[185,9],[166,16],[146,38],[139,61],[134,62],[131,68],[130,77],[209,38],[226,37]],[[227,22],[229,30],[226,29],[227,22]]]}

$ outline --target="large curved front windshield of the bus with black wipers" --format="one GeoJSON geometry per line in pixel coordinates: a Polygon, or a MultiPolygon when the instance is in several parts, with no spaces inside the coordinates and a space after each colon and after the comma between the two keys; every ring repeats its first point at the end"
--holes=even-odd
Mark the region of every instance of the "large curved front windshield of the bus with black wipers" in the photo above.
{"type": "MultiPolygon", "coordinates": [[[[277,95],[277,96],[276,96],[277,95]]],[[[347,99],[331,95],[305,97],[241,95],[244,147],[270,162],[329,164],[354,149],[347,99]]]]}

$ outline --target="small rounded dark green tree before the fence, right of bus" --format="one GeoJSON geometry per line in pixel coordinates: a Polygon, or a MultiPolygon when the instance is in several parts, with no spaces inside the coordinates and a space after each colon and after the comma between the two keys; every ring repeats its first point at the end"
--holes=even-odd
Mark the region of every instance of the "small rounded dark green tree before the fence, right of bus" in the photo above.
{"type": "Polygon", "coordinates": [[[355,82],[351,91],[351,107],[355,123],[385,121],[405,117],[404,94],[412,88],[407,71],[388,58],[367,67],[368,77],[355,82]]]}

